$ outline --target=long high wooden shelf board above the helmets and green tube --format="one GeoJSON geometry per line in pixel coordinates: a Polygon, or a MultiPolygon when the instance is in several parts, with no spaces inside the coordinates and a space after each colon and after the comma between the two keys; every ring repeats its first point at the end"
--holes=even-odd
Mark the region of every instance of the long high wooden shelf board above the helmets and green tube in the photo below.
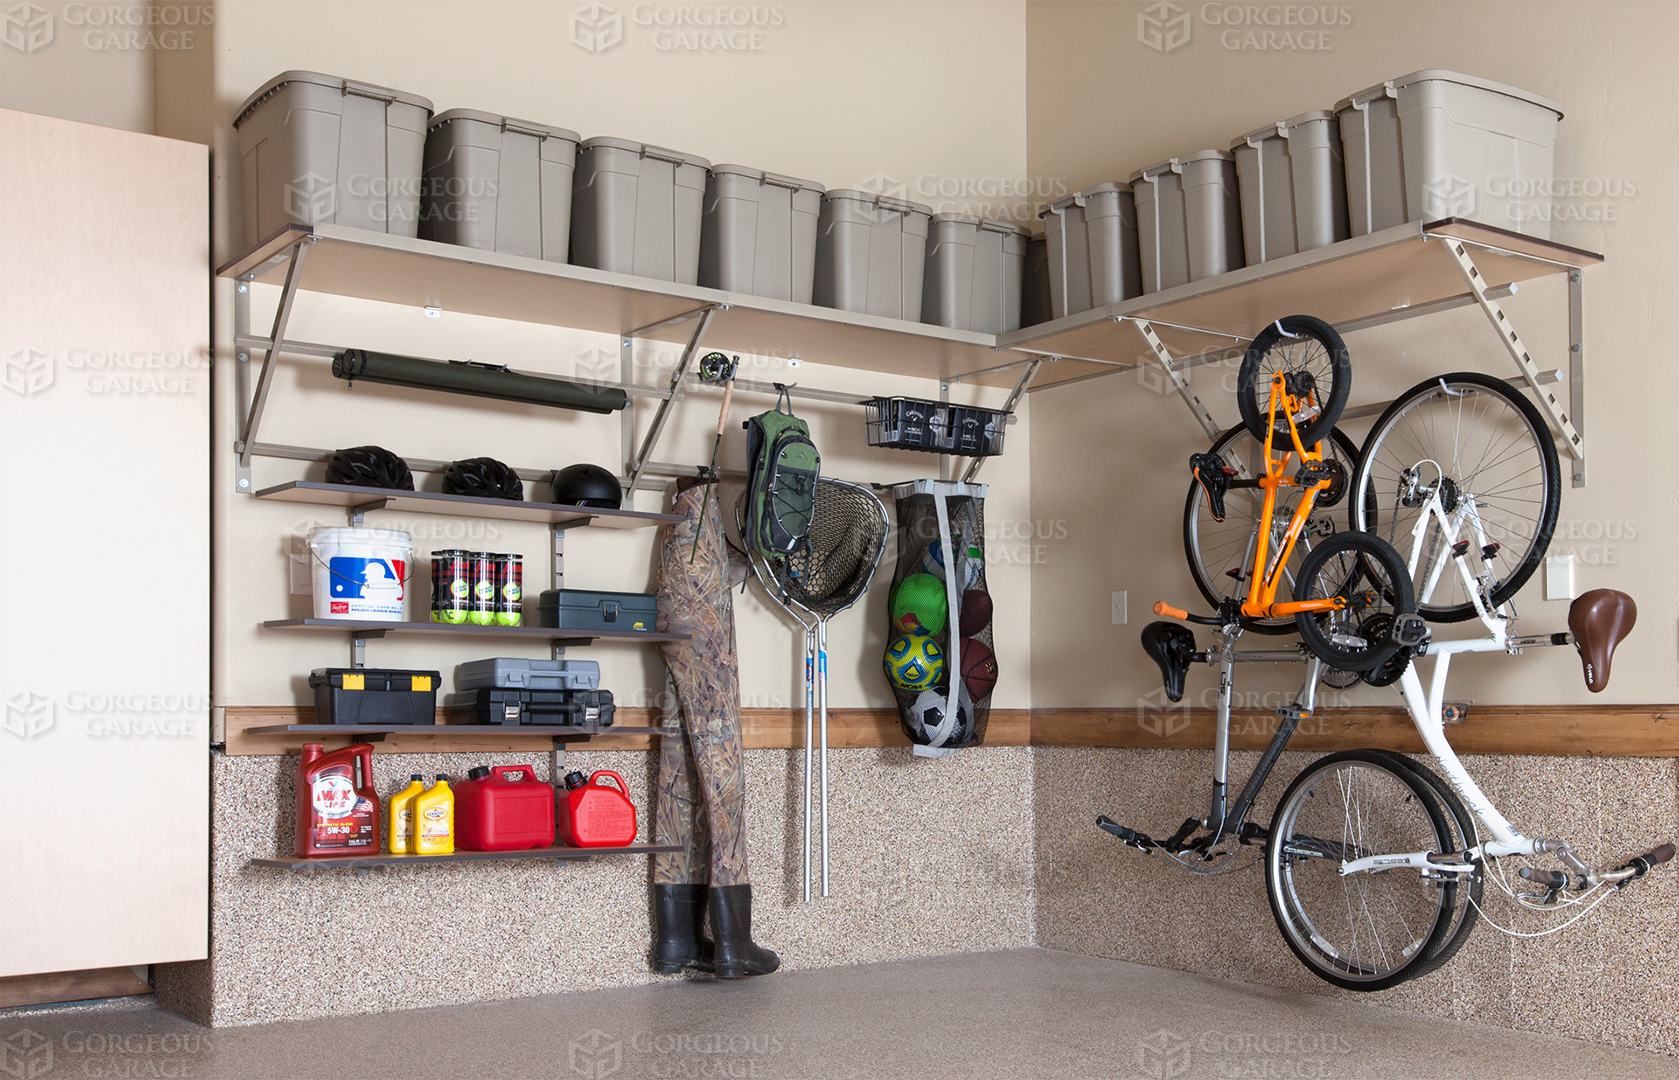
{"type": "MultiPolygon", "coordinates": [[[[564,262],[482,252],[453,244],[393,237],[339,225],[290,225],[228,262],[220,277],[284,284],[275,259],[311,237],[301,289],[410,307],[442,307],[495,319],[625,334],[665,319],[727,304],[712,317],[709,348],[811,363],[952,378],[1007,363],[992,334],[907,319],[836,311],[698,286],[609,274],[564,262]]],[[[693,322],[651,331],[656,341],[687,343],[693,322]]],[[[1016,373],[1017,376],[1017,373],[1016,373]]],[[[982,380],[979,380],[982,381],[982,380]]],[[[1012,385],[999,376],[997,385],[1012,385]]]]}

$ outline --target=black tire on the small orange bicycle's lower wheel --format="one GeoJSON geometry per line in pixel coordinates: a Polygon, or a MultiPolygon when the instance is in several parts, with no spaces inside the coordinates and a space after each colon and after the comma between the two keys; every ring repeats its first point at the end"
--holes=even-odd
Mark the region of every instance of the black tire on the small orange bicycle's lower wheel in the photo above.
{"type": "MultiPolygon", "coordinates": [[[[1355,596],[1370,591],[1378,591],[1377,601],[1390,605],[1394,615],[1409,615],[1417,608],[1410,593],[1410,569],[1387,541],[1368,532],[1336,532],[1328,537],[1313,548],[1295,579],[1295,600],[1355,596]],[[1353,553],[1352,559],[1330,566],[1330,559],[1343,551],[1353,553]],[[1377,571],[1385,581],[1377,578],[1377,571]],[[1320,581],[1325,573],[1333,574],[1333,579],[1320,581]],[[1363,579],[1373,588],[1360,590],[1363,579]]],[[[1306,648],[1320,660],[1343,672],[1363,674],[1382,667],[1395,652],[1390,645],[1343,647],[1331,640],[1333,630],[1328,627],[1358,615],[1353,608],[1331,613],[1301,611],[1295,616],[1295,625],[1306,648]]]]}

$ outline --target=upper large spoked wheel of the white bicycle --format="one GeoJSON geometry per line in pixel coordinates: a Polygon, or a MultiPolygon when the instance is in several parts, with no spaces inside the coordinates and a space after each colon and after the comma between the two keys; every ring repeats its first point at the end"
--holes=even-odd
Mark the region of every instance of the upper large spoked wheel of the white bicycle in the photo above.
{"type": "MultiPolygon", "coordinates": [[[[1556,527],[1561,469],[1540,410],[1501,378],[1454,371],[1412,386],[1365,438],[1353,477],[1363,497],[1352,501],[1352,527],[1382,536],[1407,563],[1415,551],[1417,613],[1456,623],[1474,616],[1474,603],[1451,564],[1439,519],[1424,529],[1420,544],[1414,537],[1436,487],[1449,517],[1474,506],[1486,539],[1499,544],[1488,561],[1496,608],[1533,576],[1556,527]]],[[[1481,543],[1469,527],[1459,539],[1481,543]]],[[[1478,553],[1469,558],[1479,564],[1478,553]]]]}

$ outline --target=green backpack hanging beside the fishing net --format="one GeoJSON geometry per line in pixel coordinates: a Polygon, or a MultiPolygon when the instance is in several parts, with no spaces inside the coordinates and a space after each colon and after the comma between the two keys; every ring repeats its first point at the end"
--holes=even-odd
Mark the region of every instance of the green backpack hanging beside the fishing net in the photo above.
{"type": "Polygon", "coordinates": [[[823,459],[811,428],[792,415],[787,388],[776,383],[776,408],[745,422],[751,474],[745,487],[745,541],[757,554],[776,559],[799,551],[816,514],[816,477],[823,459]],[[782,412],[781,403],[787,408],[782,412]]]}

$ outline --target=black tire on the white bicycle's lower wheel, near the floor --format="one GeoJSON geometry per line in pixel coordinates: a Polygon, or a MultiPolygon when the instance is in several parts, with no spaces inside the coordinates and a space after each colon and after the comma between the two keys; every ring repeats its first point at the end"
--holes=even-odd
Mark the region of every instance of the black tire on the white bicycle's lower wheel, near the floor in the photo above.
{"type": "MultiPolygon", "coordinates": [[[[1316,847],[1320,852],[1323,850],[1323,847],[1330,848],[1340,847],[1343,848],[1342,857],[1345,858],[1347,853],[1345,847],[1348,843],[1348,833],[1352,830],[1343,826],[1343,830],[1336,833],[1328,833],[1326,828],[1320,828],[1318,831],[1328,833],[1328,840],[1323,840],[1313,836],[1310,831],[1296,833],[1295,826],[1300,823],[1301,815],[1308,815],[1315,810],[1321,810],[1323,815],[1333,813],[1333,806],[1336,805],[1336,801],[1333,800],[1311,801],[1316,794],[1316,786],[1313,784],[1311,789],[1306,789],[1306,786],[1311,784],[1311,781],[1323,776],[1325,773],[1328,773],[1330,769],[1343,771],[1342,766],[1348,764],[1363,766],[1380,774],[1394,778],[1395,784],[1392,786],[1390,794],[1400,796],[1399,805],[1404,806],[1409,801],[1415,801],[1415,805],[1422,808],[1422,818],[1427,820],[1427,828],[1432,831],[1432,836],[1404,833],[1399,843],[1395,843],[1395,847],[1392,848],[1395,853],[1410,850],[1410,843],[1419,843],[1419,841],[1429,845],[1424,850],[1431,852],[1442,850],[1437,845],[1444,845],[1446,841],[1451,840],[1451,831],[1449,831],[1451,826],[1446,821],[1446,811],[1442,810],[1439,800],[1434,794],[1434,786],[1429,784],[1424,778],[1420,778],[1414,769],[1394,763],[1389,758],[1387,751],[1357,749],[1357,751],[1340,751],[1336,754],[1328,754],[1325,758],[1313,761],[1305,769],[1301,769],[1300,774],[1296,774],[1295,779],[1283,791],[1283,798],[1276,805],[1276,813],[1271,818],[1271,830],[1269,830],[1271,835],[1266,840],[1266,857],[1264,857],[1266,899],[1271,904],[1271,917],[1276,920],[1276,927],[1283,934],[1283,941],[1288,944],[1295,957],[1311,974],[1318,976],[1325,983],[1352,991],[1390,989],[1414,978],[1414,973],[1422,964],[1429,962],[1431,957],[1441,954],[1442,944],[1451,929],[1451,920],[1449,920],[1451,912],[1444,904],[1444,895],[1436,899],[1432,905],[1427,902],[1425,897],[1424,902],[1412,904],[1412,907],[1415,909],[1414,914],[1419,917],[1419,920],[1424,914],[1431,914],[1432,917],[1425,929],[1420,925],[1417,927],[1409,925],[1409,922],[1404,917],[1397,920],[1399,927],[1395,929],[1402,936],[1410,937],[1410,941],[1400,942],[1404,944],[1404,947],[1397,947],[1392,951],[1378,947],[1378,952],[1383,957],[1389,956],[1399,957],[1399,962],[1385,971],[1375,971],[1375,969],[1367,971],[1362,966],[1355,964],[1353,961],[1342,957],[1342,954],[1347,952],[1347,947],[1336,947],[1336,942],[1331,939],[1331,934],[1335,931],[1333,927],[1328,925],[1328,922],[1336,917],[1333,904],[1335,900],[1333,885],[1320,883],[1316,889],[1313,889],[1311,882],[1306,882],[1305,892],[1316,894],[1323,890],[1330,894],[1326,897],[1326,902],[1321,904],[1323,919],[1313,920],[1311,917],[1313,912],[1308,910],[1308,902],[1301,899],[1303,892],[1301,882],[1305,882],[1305,875],[1296,877],[1296,867],[1306,867],[1313,862],[1313,858],[1301,858],[1296,852],[1310,850],[1313,847],[1316,847]],[[1318,925],[1320,922],[1323,925],[1318,925]]],[[[1342,801],[1343,813],[1348,815],[1355,813],[1347,808],[1347,801],[1350,800],[1345,800],[1345,788],[1343,788],[1343,801],[1342,801]]],[[[1357,815],[1360,828],[1357,831],[1358,841],[1355,843],[1355,847],[1358,850],[1367,850],[1363,843],[1365,828],[1380,828],[1383,823],[1380,823],[1375,818],[1375,815],[1368,813],[1367,808],[1363,806],[1358,808],[1357,815]]],[[[1382,848],[1377,848],[1377,852],[1380,850],[1382,848]]],[[[1330,862],[1333,857],[1320,853],[1316,855],[1316,858],[1330,862]]],[[[1338,875],[1338,870],[1335,870],[1333,873],[1338,875]]],[[[1328,882],[1331,878],[1325,875],[1325,878],[1321,880],[1328,882]]],[[[1368,937],[1377,936],[1378,931],[1375,925],[1375,917],[1385,915],[1390,910],[1397,910],[1399,905],[1392,900],[1392,897],[1397,897],[1400,894],[1409,894],[1405,883],[1412,880],[1417,882],[1415,889],[1420,890],[1422,889],[1420,875],[1417,875],[1414,870],[1378,870],[1367,875],[1340,877],[1338,883],[1342,887],[1342,894],[1347,902],[1348,919],[1357,919],[1360,924],[1357,929],[1350,931],[1350,941],[1343,942],[1343,946],[1350,946],[1353,951],[1357,951],[1360,936],[1365,936],[1367,931],[1368,931],[1367,941],[1368,937]],[[1378,904],[1377,910],[1372,912],[1367,899],[1360,897],[1355,912],[1355,905],[1352,904],[1352,892],[1355,890],[1355,885],[1360,882],[1382,882],[1383,885],[1392,883],[1394,889],[1389,894],[1389,904],[1387,905],[1378,904]],[[1368,919],[1368,927],[1365,924],[1365,919],[1368,919]]],[[[1375,885],[1372,885],[1372,889],[1375,889],[1375,885]]]]}

